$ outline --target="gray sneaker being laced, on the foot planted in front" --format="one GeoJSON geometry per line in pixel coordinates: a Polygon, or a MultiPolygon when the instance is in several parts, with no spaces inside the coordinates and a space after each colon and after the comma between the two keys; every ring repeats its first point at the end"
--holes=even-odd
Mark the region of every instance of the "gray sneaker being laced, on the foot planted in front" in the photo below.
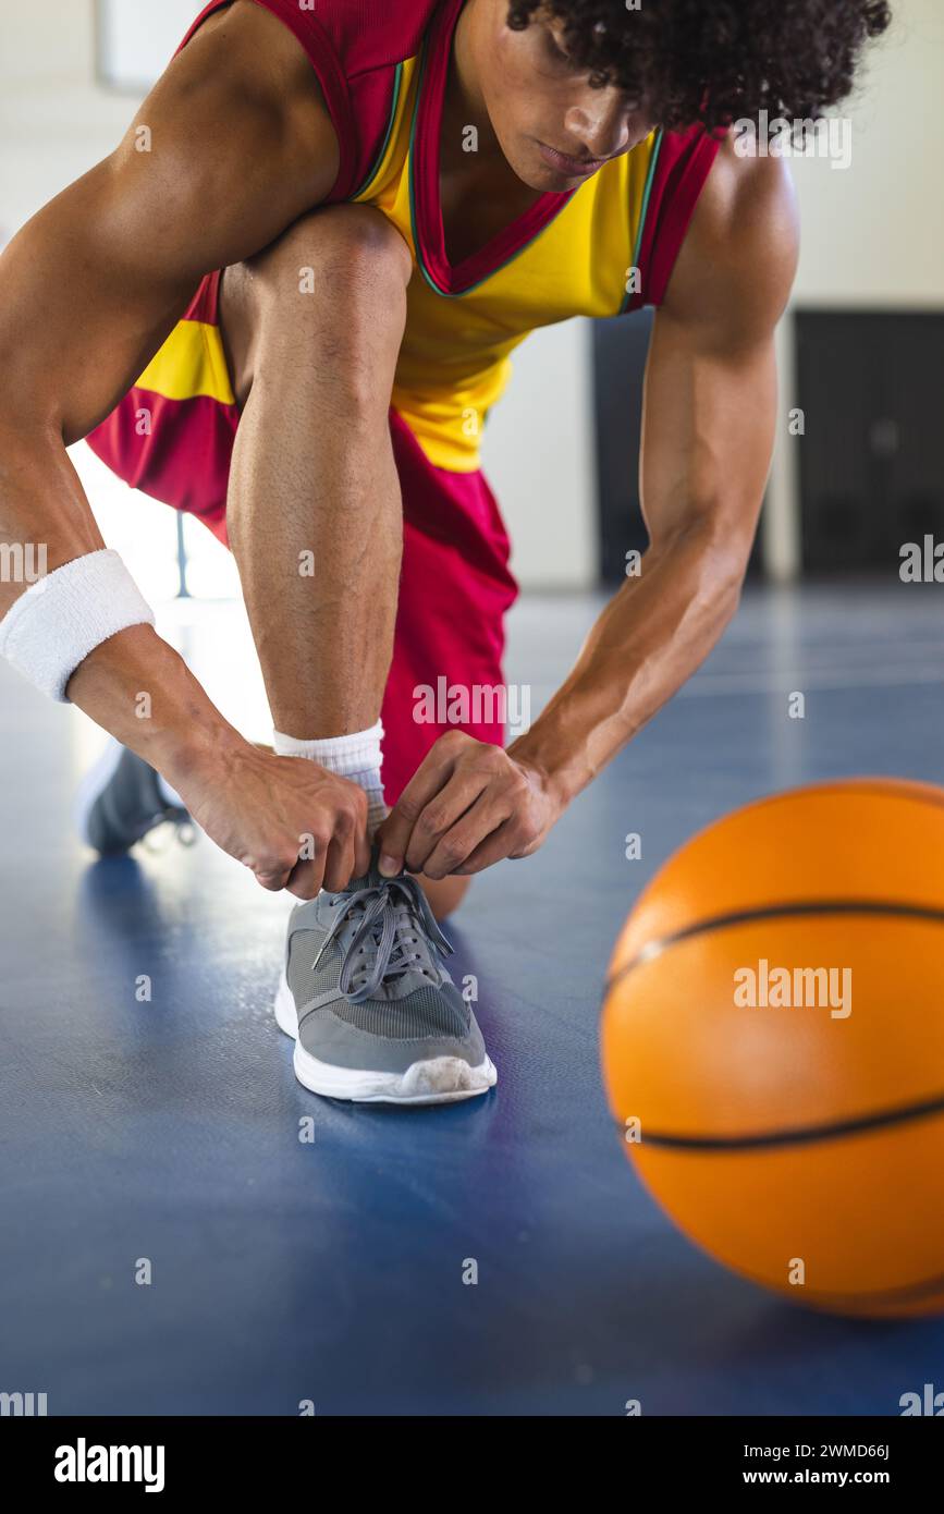
{"type": "Polygon", "coordinates": [[[275,1019],[313,1093],[368,1104],[448,1104],[496,1072],[445,966],[452,948],[416,878],[375,866],[289,921],[275,1019]]]}

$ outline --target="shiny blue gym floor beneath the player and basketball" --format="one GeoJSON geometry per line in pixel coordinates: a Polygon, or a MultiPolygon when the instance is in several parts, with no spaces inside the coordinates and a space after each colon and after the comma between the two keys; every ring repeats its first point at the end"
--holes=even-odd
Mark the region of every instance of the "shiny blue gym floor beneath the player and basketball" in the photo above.
{"type": "MultiPolygon", "coordinates": [[[[598,603],[516,610],[508,678],[534,713],[598,603]]],[[[191,631],[200,656],[231,662],[228,613],[191,631]]],[[[805,1313],[694,1251],[598,1069],[614,937],[687,836],[817,778],[944,780],[935,587],[747,593],[543,851],[477,880],[448,931],[499,1083],[446,1108],[297,1084],[271,1014],[286,901],[206,839],[94,863],[70,819],[79,722],[0,668],[2,1391],[50,1414],[619,1416],[897,1414],[944,1387],[944,1322],[805,1313]]]]}

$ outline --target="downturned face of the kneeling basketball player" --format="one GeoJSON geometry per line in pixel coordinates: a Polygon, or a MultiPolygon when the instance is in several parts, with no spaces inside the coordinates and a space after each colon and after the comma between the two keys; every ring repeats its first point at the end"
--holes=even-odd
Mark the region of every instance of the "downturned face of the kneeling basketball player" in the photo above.
{"type": "Polygon", "coordinates": [[[523,183],[566,194],[649,136],[654,123],[638,103],[619,89],[593,89],[575,68],[561,21],[545,9],[523,32],[507,21],[507,0],[486,0],[478,83],[501,148],[523,183]]]}

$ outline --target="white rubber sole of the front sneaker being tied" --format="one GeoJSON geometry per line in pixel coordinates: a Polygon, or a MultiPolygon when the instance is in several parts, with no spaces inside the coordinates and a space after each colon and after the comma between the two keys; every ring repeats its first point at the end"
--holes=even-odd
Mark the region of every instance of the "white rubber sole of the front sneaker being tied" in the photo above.
{"type": "Polygon", "coordinates": [[[275,995],[278,1028],[295,1042],[295,1076],[312,1093],[327,1099],[351,1099],[354,1104],[454,1104],[487,1093],[498,1081],[490,1057],[470,1067],[461,1057],[433,1057],[415,1061],[405,1072],[362,1072],[357,1067],[333,1067],[312,1057],[298,1040],[295,999],[284,972],[275,995]]]}

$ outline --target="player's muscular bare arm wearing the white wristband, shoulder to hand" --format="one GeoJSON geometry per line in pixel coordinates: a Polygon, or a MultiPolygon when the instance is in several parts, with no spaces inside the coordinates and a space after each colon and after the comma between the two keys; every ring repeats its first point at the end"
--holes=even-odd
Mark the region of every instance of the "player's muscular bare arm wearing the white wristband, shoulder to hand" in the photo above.
{"type": "MultiPolygon", "coordinates": [[[[0,259],[0,540],[44,544],[50,571],[104,545],[65,448],[135,383],[201,277],[260,251],[321,203],[337,164],[316,79],[287,29],[250,0],[210,18],[118,150],[47,204],[0,259]]],[[[0,583],[0,616],[24,589],[0,583]]],[[[266,759],[150,627],[98,646],[68,695],[186,798],[210,762],[221,790],[239,769],[233,784],[242,783],[247,808],[256,789],[272,789],[266,759]],[[141,690],[153,701],[147,721],[135,715],[141,690]]],[[[313,765],[306,774],[313,778],[313,765]]],[[[284,854],[266,857],[266,839],[241,827],[234,808],[236,798],[206,816],[210,834],[266,887],[281,887],[298,860],[297,843],[289,860],[292,830],[313,827],[297,824],[290,799],[280,802],[286,839],[265,812],[260,827],[284,854]]]]}

